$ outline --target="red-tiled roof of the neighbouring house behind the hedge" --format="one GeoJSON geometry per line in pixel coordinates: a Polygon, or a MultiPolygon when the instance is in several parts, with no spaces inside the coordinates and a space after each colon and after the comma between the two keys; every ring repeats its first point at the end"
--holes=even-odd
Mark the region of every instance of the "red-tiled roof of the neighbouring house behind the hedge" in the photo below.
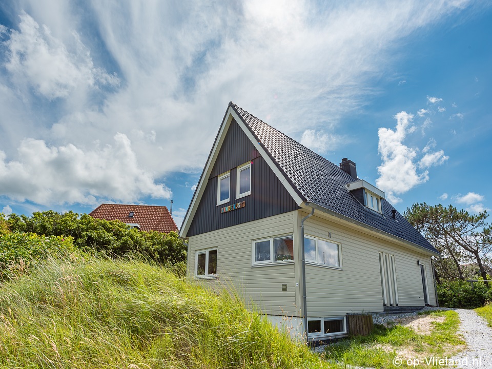
{"type": "Polygon", "coordinates": [[[150,205],[100,204],[89,213],[96,219],[120,220],[140,231],[177,232],[178,228],[166,207],[150,205]]]}

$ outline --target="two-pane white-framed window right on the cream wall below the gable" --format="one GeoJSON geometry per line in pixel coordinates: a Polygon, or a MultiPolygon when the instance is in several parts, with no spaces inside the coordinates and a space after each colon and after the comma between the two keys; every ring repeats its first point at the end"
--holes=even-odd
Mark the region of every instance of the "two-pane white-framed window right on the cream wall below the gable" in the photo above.
{"type": "Polygon", "coordinates": [[[253,241],[253,264],[271,264],[294,260],[292,235],[253,241]]]}

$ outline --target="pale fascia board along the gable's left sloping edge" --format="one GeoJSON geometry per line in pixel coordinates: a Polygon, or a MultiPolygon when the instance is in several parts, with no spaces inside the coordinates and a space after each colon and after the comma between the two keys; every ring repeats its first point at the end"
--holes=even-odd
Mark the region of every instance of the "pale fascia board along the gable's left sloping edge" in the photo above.
{"type": "Polygon", "coordinates": [[[200,181],[198,182],[195,194],[193,195],[193,199],[191,200],[189,211],[186,214],[185,220],[183,220],[183,224],[181,226],[181,230],[179,231],[179,236],[182,238],[186,238],[186,234],[188,233],[188,230],[191,226],[191,220],[195,216],[198,204],[200,203],[201,197],[203,196],[203,192],[205,192],[210,172],[212,171],[215,160],[217,159],[217,155],[219,154],[220,148],[222,147],[222,143],[224,141],[224,138],[226,137],[227,130],[231,125],[233,112],[234,110],[231,106],[229,106],[226,115],[224,115],[220,130],[217,134],[217,139],[214,142],[214,147],[212,148],[211,154],[209,155],[205,168],[203,169],[203,173],[200,177],[200,181]]]}

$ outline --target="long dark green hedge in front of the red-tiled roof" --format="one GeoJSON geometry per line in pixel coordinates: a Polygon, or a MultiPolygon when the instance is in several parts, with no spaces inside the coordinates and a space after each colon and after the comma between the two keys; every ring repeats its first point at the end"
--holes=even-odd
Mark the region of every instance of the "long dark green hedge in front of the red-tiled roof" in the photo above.
{"type": "Polygon", "coordinates": [[[32,232],[46,236],[71,236],[84,251],[109,255],[137,253],[159,263],[186,261],[187,247],[178,234],[142,232],[128,228],[118,220],[94,219],[88,214],[54,211],[35,212],[32,216],[10,214],[7,220],[12,232],[32,232]]]}

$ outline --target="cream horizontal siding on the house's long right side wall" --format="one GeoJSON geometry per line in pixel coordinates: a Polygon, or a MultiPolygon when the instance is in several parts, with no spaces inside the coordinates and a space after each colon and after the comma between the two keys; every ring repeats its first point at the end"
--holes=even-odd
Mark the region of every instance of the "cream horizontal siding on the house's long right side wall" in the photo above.
{"type": "Polygon", "coordinates": [[[424,305],[417,260],[425,263],[429,302],[436,304],[428,255],[390,240],[340,227],[337,223],[317,217],[316,213],[304,223],[304,233],[341,244],[343,265],[342,270],[337,270],[306,264],[310,317],[383,311],[379,252],[395,256],[400,306],[424,305]]]}

